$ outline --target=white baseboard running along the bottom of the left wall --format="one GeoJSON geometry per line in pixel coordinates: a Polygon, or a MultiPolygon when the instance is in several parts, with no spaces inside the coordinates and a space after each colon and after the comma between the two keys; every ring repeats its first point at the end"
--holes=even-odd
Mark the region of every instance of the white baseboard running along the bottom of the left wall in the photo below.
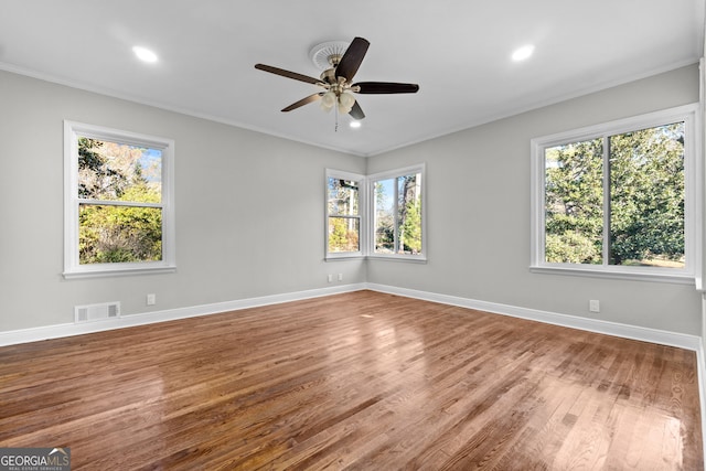
{"type": "Polygon", "coordinates": [[[217,314],[227,311],[238,311],[242,309],[257,308],[259,306],[279,304],[282,302],[320,298],[323,296],[339,295],[342,292],[360,291],[362,289],[365,289],[365,283],[342,285],[331,288],[270,295],[258,298],[193,306],[189,308],[128,314],[117,319],[105,319],[81,323],[72,322],[57,325],[7,331],[0,332],[0,346],[38,342],[41,340],[58,339],[72,335],[82,335],[86,333],[103,332],[114,329],[147,325],[157,322],[174,321],[178,319],[195,318],[199,315],[217,314]]]}

